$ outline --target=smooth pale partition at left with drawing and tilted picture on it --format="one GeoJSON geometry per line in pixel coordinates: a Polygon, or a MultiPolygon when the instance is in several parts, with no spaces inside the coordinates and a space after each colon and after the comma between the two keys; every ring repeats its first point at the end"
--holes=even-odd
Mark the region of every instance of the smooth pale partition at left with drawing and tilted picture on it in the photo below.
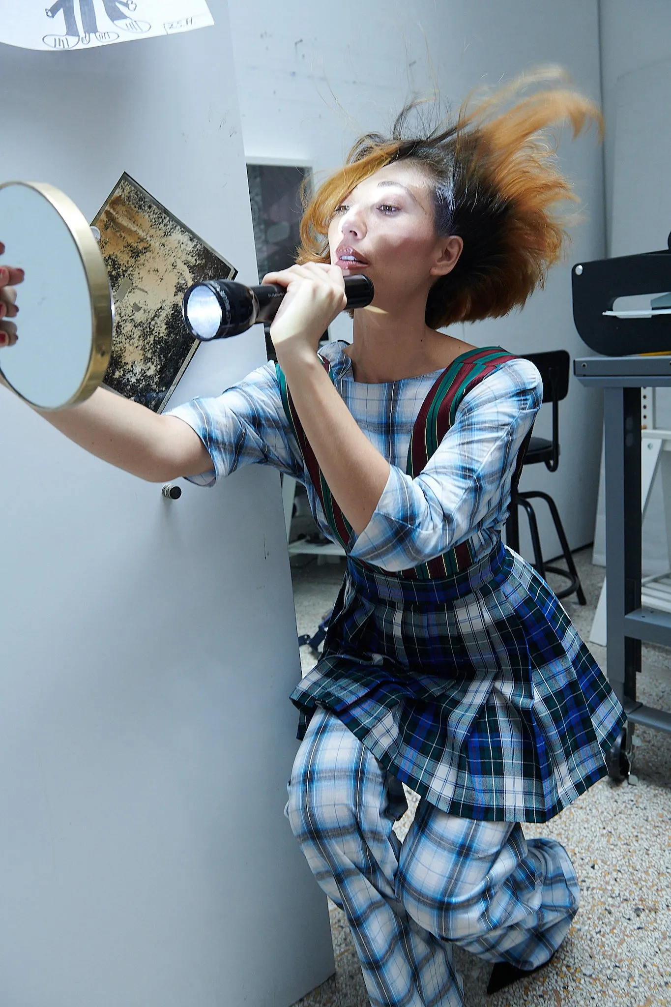
{"type": "MultiPolygon", "coordinates": [[[[210,6],[214,28],[132,45],[0,45],[0,178],[91,220],[129,171],[253,275],[210,6]]],[[[202,346],[175,401],[264,359],[261,329],[202,346]]],[[[0,432],[0,1004],[287,1007],[333,954],[283,817],[300,661],[278,474],[171,502],[4,389],[0,432]]]]}

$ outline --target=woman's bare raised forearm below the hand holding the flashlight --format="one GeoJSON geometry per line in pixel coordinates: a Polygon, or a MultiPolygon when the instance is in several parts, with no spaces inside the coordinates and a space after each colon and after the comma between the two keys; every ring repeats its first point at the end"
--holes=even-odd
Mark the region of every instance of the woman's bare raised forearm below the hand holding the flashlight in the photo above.
{"type": "Polygon", "coordinates": [[[324,478],[359,535],[382,495],[389,463],[359,429],[316,353],[287,353],[281,364],[324,478]]]}

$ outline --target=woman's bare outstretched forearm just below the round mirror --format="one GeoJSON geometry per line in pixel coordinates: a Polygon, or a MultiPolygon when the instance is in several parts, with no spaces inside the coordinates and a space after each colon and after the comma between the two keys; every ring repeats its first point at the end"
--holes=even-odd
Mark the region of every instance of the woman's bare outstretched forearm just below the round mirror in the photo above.
{"type": "Polygon", "coordinates": [[[92,454],[151,482],[195,475],[212,467],[196,433],[182,420],[99,388],[72,409],[40,412],[92,454]]]}

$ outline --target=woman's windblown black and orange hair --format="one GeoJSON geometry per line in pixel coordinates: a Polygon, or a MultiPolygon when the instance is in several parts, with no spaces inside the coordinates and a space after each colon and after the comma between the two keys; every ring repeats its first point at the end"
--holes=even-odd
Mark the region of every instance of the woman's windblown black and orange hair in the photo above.
{"type": "MultiPolygon", "coordinates": [[[[436,128],[410,130],[421,103],[405,106],[391,135],[367,133],[347,161],[317,189],[301,222],[297,262],[328,263],[328,228],[336,207],[359,182],[396,161],[416,162],[433,184],[437,234],[458,235],[463,252],[427,301],[433,328],[507,314],[542,287],[566,238],[557,204],[577,201],[557,166],[551,127],[568,122],[573,138],[603,119],[582,95],[557,87],[561,71],[523,75],[436,128]],[[543,90],[519,98],[529,84],[543,90]],[[547,85],[553,85],[548,87],[547,85]],[[510,108],[511,100],[517,99],[510,108]]],[[[421,118],[421,117],[420,117],[421,118]]]]}

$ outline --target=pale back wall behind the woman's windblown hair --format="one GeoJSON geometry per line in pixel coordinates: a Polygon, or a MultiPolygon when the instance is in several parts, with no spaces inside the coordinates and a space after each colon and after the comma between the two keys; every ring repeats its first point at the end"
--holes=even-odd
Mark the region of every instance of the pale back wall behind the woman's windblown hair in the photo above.
{"type": "MultiPolygon", "coordinates": [[[[441,94],[454,106],[481,83],[495,85],[541,62],[567,67],[575,85],[600,100],[597,0],[370,0],[355,8],[291,3],[281,15],[270,0],[231,0],[230,16],[247,156],[338,166],[359,132],[384,129],[413,88],[431,87],[427,49],[441,94]]],[[[573,232],[566,264],[522,313],[468,327],[466,338],[514,352],[561,346],[571,356],[586,352],[572,322],[568,264],[604,254],[595,132],[572,144],[566,138],[561,160],[588,212],[573,232]]],[[[342,328],[333,332],[341,337],[342,328]]],[[[554,495],[573,546],[593,537],[601,425],[600,395],[572,382],[560,413],[558,473],[534,466],[523,477],[523,487],[554,495]]],[[[536,429],[549,430],[549,417],[541,414],[536,429]]],[[[546,524],[541,534],[546,556],[556,554],[546,524]]]]}

